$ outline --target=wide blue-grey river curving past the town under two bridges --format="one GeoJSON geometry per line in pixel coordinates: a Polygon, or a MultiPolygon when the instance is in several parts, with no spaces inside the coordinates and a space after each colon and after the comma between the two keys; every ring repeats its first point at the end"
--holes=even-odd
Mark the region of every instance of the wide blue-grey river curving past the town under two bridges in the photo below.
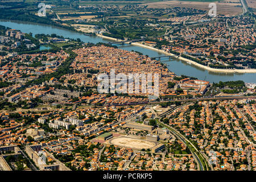
{"type": "MultiPolygon", "coordinates": [[[[38,23],[28,23],[28,22],[19,22],[13,20],[0,20],[0,24],[6,27],[14,28],[20,30],[22,32],[35,34],[57,34],[62,35],[64,38],[80,38],[83,42],[113,42],[109,39],[103,39],[98,36],[86,36],[79,32],[69,31],[64,28],[49,26],[45,24],[38,23]]],[[[150,57],[164,56],[163,53],[159,53],[156,51],[152,51],[151,49],[138,47],[138,46],[119,46],[121,49],[125,49],[127,51],[138,51],[143,53],[144,55],[148,55],[150,57]]],[[[207,80],[210,82],[219,82],[219,81],[234,81],[234,80],[243,80],[245,82],[256,82],[256,73],[216,73],[210,72],[205,69],[196,67],[191,64],[187,64],[185,61],[181,61],[179,59],[171,59],[171,60],[161,60],[162,63],[167,64],[168,69],[171,72],[174,72],[176,75],[187,75],[199,78],[200,80],[207,80]]]]}

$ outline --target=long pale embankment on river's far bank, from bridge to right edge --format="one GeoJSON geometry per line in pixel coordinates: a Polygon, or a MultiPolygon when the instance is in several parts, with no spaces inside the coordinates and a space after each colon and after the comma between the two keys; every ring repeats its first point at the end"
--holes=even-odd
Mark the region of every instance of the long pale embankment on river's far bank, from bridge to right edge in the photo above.
{"type": "Polygon", "coordinates": [[[217,68],[210,68],[210,67],[207,67],[205,65],[201,65],[199,63],[196,63],[195,61],[189,60],[187,58],[180,57],[180,56],[174,55],[173,53],[166,52],[166,51],[163,51],[163,50],[151,47],[151,46],[147,46],[147,45],[144,45],[142,43],[131,43],[131,45],[133,45],[133,46],[140,46],[140,47],[143,47],[143,48],[148,48],[148,49],[151,49],[151,50],[154,50],[154,51],[158,51],[160,53],[164,53],[165,55],[176,56],[177,59],[186,61],[187,63],[191,63],[191,64],[193,64],[193,65],[195,65],[197,67],[206,69],[206,70],[208,70],[210,72],[220,72],[220,73],[256,73],[256,69],[217,69],[217,68]]]}

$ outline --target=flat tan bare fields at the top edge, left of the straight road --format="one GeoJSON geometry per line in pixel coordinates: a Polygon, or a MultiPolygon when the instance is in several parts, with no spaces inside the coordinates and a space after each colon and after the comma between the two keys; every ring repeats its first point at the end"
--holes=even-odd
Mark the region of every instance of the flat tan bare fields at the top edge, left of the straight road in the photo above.
{"type": "MultiPolygon", "coordinates": [[[[253,1],[253,0],[250,0],[253,1]]],[[[210,2],[189,2],[189,1],[162,1],[162,2],[152,2],[145,3],[143,5],[148,5],[148,8],[172,8],[172,7],[187,7],[194,8],[200,10],[209,11],[209,3],[210,2]]],[[[226,0],[214,2],[217,5],[217,14],[225,14],[225,15],[236,15],[242,13],[241,3],[238,0],[226,0]]]]}

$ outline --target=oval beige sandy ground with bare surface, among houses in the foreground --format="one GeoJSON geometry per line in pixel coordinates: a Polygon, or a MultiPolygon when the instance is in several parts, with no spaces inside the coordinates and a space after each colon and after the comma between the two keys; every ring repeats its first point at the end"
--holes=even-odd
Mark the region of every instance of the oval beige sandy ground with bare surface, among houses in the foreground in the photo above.
{"type": "Polygon", "coordinates": [[[147,148],[152,148],[156,146],[155,142],[150,142],[147,140],[135,139],[130,137],[114,138],[112,140],[109,140],[109,143],[113,144],[114,146],[136,148],[138,150],[141,150],[142,148],[147,149],[147,148]]]}

